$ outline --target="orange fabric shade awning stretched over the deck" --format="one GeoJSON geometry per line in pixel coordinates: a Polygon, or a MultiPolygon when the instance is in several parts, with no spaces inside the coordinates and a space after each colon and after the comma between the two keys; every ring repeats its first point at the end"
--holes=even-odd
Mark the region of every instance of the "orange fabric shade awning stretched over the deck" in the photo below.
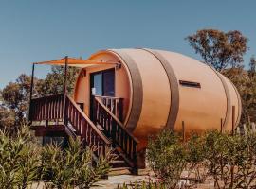
{"type": "Polygon", "coordinates": [[[36,62],[35,64],[48,64],[48,65],[57,65],[57,66],[64,66],[65,63],[67,63],[68,66],[74,66],[74,67],[89,67],[93,65],[111,65],[111,64],[117,64],[118,62],[114,61],[96,61],[96,60],[82,60],[82,59],[75,59],[75,58],[64,58],[61,60],[49,60],[49,61],[42,61],[42,62],[36,62]]]}

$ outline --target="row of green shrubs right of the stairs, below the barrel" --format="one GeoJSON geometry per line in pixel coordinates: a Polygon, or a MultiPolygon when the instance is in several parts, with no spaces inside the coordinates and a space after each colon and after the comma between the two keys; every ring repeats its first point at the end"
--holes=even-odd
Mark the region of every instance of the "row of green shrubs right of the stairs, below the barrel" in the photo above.
{"type": "MultiPolygon", "coordinates": [[[[256,187],[255,133],[245,137],[212,130],[184,142],[174,132],[164,130],[150,140],[147,159],[157,180],[166,188],[180,187],[181,180],[186,180],[185,187],[189,188],[207,177],[219,189],[256,187]]],[[[147,187],[154,188],[155,182],[147,187]]]]}

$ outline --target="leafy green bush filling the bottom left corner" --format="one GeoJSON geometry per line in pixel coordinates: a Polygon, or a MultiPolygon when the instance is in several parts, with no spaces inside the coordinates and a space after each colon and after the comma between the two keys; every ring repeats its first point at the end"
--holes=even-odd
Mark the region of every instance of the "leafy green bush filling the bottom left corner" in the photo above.
{"type": "Polygon", "coordinates": [[[25,189],[38,178],[40,148],[25,126],[15,137],[9,135],[0,131],[0,185],[3,189],[25,189]]]}

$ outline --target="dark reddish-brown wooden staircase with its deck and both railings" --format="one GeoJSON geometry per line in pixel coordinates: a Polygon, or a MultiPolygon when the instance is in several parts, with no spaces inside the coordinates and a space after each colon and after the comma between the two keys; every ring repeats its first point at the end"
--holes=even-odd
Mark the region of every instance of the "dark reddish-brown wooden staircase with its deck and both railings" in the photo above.
{"type": "Polygon", "coordinates": [[[34,98],[30,101],[29,121],[36,136],[80,137],[84,146],[96,148],[96,159],[110,148],[118,157],[111,163],[113,170],[125,168],[137,174],[138,141],[118,118],[118,100],[95,96],[93,105],[94,116],[90,120],[68,95],[34,98]],[[44,126],[38,124],[42,122],[44,126]]]}

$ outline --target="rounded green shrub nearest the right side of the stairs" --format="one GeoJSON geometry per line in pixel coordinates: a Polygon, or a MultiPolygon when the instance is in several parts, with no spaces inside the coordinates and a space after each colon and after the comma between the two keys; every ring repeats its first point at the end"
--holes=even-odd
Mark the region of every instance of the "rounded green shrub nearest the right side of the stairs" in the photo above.
{"type": "Polygon", "coordinates": [[[175,188],[186,166],[186,150],[180,137],[166,129],[150,139],[147,159],[155,176],[162,180],[167,188],[175,188]]]}

